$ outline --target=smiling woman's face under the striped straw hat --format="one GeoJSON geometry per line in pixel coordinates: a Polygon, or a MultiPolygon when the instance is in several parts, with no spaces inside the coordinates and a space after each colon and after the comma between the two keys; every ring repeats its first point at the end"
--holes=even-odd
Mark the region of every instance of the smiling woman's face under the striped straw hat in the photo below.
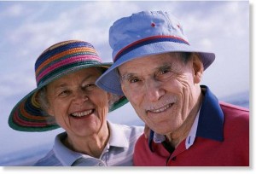
{"type": "Polygon", "coordinates": [[[69,136],[94,136],[107,125],[109,95],[95,84],[101,74],[90,67],[47,86],[48,113],[69,136]]]}

